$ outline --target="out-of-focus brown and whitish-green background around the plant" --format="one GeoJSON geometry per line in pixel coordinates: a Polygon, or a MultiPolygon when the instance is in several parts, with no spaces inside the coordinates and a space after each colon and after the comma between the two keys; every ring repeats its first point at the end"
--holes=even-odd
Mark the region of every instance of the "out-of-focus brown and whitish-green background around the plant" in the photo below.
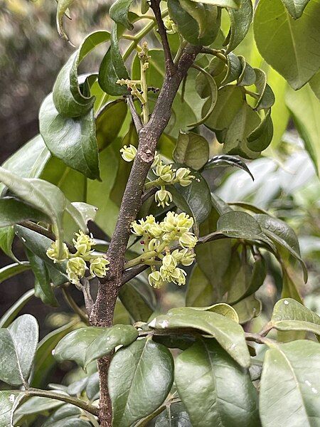
{"type": "MultiPolygon", "coordinates": [[[[112,1],[107,0],[76,2],[72,9],[73,20],[65,19],[66,31],[75,46],[80,44],[87,33],[108,27],[107,12],[110,4],[112,1]]],[[[1,0],[0,163],[38,133],[41,101],[50,92],[58,70],[74,51],[70,43],[58,36],[55,9],[55,0],[1,0]]],[[[250,40],[250,34],[247,40],[250,40]]],[[[240,46],[238,53],[241,54],[247,46],[248,43],[240,46]]],[[[252,52],[251,59],[255,56],[256,61],[261,60],[255,46],[252,52]]],[[[95,66],[95,60],[98,67],[98,58],[90,56],[91,69],[95,66]]],[[[81,66],[85,71],[85,61],[81,66]]],[[[250,176],[242,170],[218,168],[210,176],[211,187],[225,201],[250,202],[287,221],[294,228],[309,270],[308,283],[303,284],[298,270],[294,274],[297,275],[297,283],[301,282],[300,291],[306,305],[320,314],[320,184],[314,164],[304,149],[304,142],[294,123],[289,120],[289,112],[279,93],[283,79],[277,80],[275,77],[271,75],[274,83],[270,82],[278,102],[273,108],[274,114],[279,115],[281,108],[282,117],[286,118],[283,119],[283,125],[277,127],[281,135],[276,135],[277,141],[273,142],[271,149],[264,157],[248,162],[255,181],[252,182],[250,176]]],[[[218,144],[213,143],[213,154],[218,154],[219,149],[218,144]]],[[[14,251],[18,258],[24,259],[19,246],[14,251]]],[[[0,268],[10,262],[10,258],[0,254],[0,268]]],[[[27,272],[6,280],[0,286],[1,317],[14,301],[33,287],[33,278],[27,272]]],[[[279,296],[280,288],[281,273],[272,272],[259,291],[266,316],[268,307],[271,309],[279,296]]],[[[164,309],[183,304],[183,292],[184,289],[177,287],[161,290],[159,298],[164,309]]],[[[75,291],[73,297],[82,304],[80,292],[75,291]]],[[[72,317],[65,302],[62,299],[59,302],[62,308],[54,309],[32,298],[25,306],[23,312],[31,312],[41,323],[41,336],[53,327],[65,325],[72,317]]]]}

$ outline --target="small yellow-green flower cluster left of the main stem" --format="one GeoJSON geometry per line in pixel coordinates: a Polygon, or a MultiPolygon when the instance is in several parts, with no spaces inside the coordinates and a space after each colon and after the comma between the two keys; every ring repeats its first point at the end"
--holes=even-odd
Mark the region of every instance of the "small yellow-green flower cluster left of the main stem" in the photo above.
{"type": "Polygon", "coordinates": [[[70,253],[68,247],[63,243],[63,257],[58,258],[58,241],[51,243],[47,250],[47,256],[54,263],[67,261],[67,275],[71,283],[79,285],[80,278],[85,277],[87,263],[90,267],[90,275],[103,278],[107,274],[107,265],[109,261],[101,255],[95,255],[92,250],[94,241],[92,237],[87,236],[82,231],[75,233],[76,238],[73,239],[76,253],[70,253]]]}

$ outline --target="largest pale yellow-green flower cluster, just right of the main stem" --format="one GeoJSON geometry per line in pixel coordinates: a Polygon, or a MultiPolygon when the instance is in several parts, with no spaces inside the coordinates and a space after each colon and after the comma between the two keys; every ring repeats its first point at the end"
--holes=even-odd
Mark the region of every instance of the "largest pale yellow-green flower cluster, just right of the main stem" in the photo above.
{"type": "Polygon", "coordinates": [[[186,272],[179,268],[178,264],[186,266],[193,263],[193,248],[197,238],[190,231],[192,226],[193,218],[184,212],[176,214],[171,211],[160,223],[152,215],[132,223],[132,232],[144,238],[144,251],[152,270],[149,283],[154,288],[161,288],[166,282],[177,285],[186,283],[186,272]],[[181,248],[172,251],[177,244],[181,248]],[[148,257],[148,251],[151,257],[148,257]],[[159,265],[158,258],[161,265],[159,270],[156,270],[156,265],[159,265]]]}

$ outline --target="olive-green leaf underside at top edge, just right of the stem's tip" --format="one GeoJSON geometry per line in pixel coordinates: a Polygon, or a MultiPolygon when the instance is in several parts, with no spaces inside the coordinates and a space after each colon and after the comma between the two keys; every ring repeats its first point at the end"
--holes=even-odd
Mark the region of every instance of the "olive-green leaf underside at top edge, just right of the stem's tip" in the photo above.
{"type": "Polygon", "coordinates": [[[218,36],[221,11],[203,2],[198,4],[198,8],[193,3],[191,0],[169,0],[169,14],[186,41],[208,46],[218,36]]]}

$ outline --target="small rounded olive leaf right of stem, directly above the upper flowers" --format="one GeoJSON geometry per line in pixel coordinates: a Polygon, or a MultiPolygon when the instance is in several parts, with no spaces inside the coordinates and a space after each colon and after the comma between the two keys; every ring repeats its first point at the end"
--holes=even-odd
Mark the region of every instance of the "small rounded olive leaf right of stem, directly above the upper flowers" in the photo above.
{"type": "Polygon", "coordinates": [[[174,160],[198,171],[209,158],[209,145],[206,138],[194,132],[179,132],[174,149],[174,160]]]}

